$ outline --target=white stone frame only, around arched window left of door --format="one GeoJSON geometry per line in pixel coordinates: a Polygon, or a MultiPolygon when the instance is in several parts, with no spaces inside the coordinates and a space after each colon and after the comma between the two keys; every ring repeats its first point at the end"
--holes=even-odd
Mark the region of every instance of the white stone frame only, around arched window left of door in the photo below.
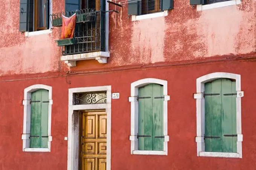
{"type": "Polygon", "coordinates": [[[22,101],[24,105],[23,110],[23,134],[21,139],[23,140],[23,152],[50,152],[51,151],[51,122],[52,122],[52,87],[44,84],[35,84],[24,89],[24,99],[22,101]],[[47,148],[30,148],[29,136],[30,136],[30,115],[31,115],[31,93],[39,89],[45,89],[49,91],[49,107],[48,107],[48,147],[47,148]]]}

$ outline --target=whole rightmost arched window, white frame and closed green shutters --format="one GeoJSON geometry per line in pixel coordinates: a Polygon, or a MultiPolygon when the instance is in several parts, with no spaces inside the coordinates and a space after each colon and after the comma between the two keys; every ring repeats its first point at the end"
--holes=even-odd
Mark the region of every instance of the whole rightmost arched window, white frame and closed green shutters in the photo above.
{"type": "Polygon", "coordinates": [[[242,158],[241,77],[212,73],[197,79],[198,156],[242,158]]]}

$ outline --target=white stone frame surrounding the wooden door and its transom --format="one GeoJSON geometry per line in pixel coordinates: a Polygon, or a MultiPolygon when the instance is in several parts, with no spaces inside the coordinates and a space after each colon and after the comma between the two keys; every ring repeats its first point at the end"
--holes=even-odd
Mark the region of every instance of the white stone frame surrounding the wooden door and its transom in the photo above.
{"type": "Polygon", "coordinates": [[[75,114],[84,110],[102,110],[107,113],[107,163],[106,169],[111,170],[111,86],[78,87],[69,89],[68,111],[68,143],[67,170],[78,170],[79,165],[79,124],[75,125],[75,114]],[[106,104],[73,105],[73,93],[107,91],[106,104]]]}

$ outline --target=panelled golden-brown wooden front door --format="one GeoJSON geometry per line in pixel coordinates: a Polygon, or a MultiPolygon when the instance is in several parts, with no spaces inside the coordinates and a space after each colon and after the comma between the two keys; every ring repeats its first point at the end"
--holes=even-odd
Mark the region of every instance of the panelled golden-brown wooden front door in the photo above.
{"type": "Polygon", "coordinates": [[[81,114],[81,170],[106,170],[107,114],[87,111],[81,114]]]}

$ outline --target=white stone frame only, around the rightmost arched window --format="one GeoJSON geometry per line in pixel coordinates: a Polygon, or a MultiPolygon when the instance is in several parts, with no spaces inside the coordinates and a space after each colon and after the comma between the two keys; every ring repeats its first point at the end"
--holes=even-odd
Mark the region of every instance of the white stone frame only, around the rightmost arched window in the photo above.
{"type": "Polygon", "coordinates": [[[241,91],[241,75],[227,72],[214,72],[197,78],[197,93],[194,94],[197,108],[197,156],[242,158],[242,126],[241,126],[241,98],[244,92],[241,91]],[[236,133],[237,133],[237,153],[228,152],[205,152],[204,143],[204,84],[219,78],[229,78],[236,81],[236,133]]]}

